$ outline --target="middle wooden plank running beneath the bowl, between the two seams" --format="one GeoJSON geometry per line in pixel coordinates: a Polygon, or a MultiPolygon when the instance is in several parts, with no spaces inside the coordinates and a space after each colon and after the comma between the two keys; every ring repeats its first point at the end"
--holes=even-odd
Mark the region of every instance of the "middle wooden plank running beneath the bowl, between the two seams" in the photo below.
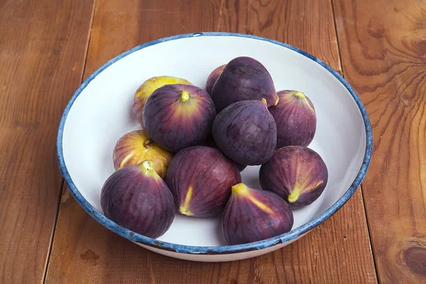
{"type": "MultiPolygon", "coordinates": [[[[187,0],[178,6],[170,1],[98,0],[84,76],[134,45],[167,35],[212,30],[283,40],[339,70],[332,7],[326,0],[285,4],[273,0],[268,5],[187,0]]],[[[141,249],[97,224],[67,190],[63,192],[47,283],[284,281],[376,283],[360,190],[334,217],[294,244],[231,263],[180,261],[141,249]]]]}

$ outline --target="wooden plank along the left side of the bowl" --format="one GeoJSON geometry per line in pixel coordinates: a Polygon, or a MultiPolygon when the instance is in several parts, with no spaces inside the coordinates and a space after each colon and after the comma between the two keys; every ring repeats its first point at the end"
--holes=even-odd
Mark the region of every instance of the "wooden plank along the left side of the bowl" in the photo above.
{"type": "Polygon", "coordinates": [[[62,177],[58,122],[82,78],[93,2],[0,4],[0,283],[45,275],[62,177]]]}

